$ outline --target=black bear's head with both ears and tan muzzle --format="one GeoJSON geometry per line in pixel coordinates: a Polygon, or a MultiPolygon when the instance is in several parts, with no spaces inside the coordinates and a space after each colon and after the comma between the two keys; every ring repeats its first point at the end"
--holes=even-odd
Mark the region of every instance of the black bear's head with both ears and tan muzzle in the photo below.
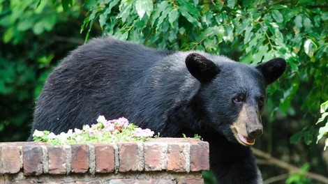
{"type": "Polygon", "coordinates": [[[271,59],[254,67],[221,56],[192,53],[186,57],[186,66],[201,84],[197,98],[210,121],[209,128],[229,141],[252,146],[263,132],[265,88],[283,74],[285,59],[271,59]]]}

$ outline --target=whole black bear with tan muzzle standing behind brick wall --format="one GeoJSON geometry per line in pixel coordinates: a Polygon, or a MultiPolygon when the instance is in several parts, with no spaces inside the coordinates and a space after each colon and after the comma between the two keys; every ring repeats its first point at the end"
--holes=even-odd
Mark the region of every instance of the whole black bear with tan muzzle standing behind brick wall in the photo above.
{"type": "Polygon", "coordinates": [[[124,116],[162,137],[202,136],[218,183],[262,183],[249,146],[262,135],[265,87],[285,67],[281,58],[247,66],[204,52],[96,38],[49,75],[32,132],[59,134],[90,125],[99,115],[124,116]]]}

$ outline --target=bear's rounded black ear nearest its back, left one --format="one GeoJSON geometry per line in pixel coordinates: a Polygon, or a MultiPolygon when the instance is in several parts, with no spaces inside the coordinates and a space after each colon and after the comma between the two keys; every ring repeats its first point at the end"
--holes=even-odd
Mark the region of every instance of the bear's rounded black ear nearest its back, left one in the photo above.
{"type": "Polygon", "coordinates": [[[210,82],[220,72],[220,68],[213,61],[197,53],[186,57],[186,66],[191,75],[201,83],[210,82]]]}

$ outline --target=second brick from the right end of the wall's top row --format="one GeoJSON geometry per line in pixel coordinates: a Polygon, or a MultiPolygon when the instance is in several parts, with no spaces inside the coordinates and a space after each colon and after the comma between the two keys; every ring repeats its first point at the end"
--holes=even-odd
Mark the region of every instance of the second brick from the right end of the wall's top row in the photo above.
{"type": "Polygon", "coordinates": [[[186,171],[186,157],[184,155],[186,144],[168,144],[167,147],[167,171],[186,171]]]}

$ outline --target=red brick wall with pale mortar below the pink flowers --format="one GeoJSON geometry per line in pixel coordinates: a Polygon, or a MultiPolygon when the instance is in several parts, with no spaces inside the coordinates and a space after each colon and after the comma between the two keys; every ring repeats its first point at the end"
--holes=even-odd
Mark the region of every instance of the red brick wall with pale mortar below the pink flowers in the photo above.
{"type": "Polygon", "coordinates": [[[0,143],[0,183],[204,183],[209,144],[161,138],[144,143],[50,146],[0,143]]]}

